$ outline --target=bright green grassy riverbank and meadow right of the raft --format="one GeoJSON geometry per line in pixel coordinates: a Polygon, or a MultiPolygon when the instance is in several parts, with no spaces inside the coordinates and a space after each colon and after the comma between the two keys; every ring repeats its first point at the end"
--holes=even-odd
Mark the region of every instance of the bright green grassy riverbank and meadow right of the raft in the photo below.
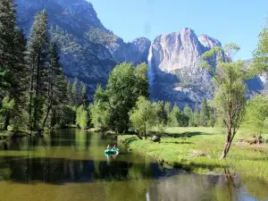
{"type": "Polygon", "coordinates": [[[224,135],[214,128],[169,128],[161,138],[161,143],[141,140],[133,135],[119,136],[120,143],[129,150],[153,156],[160,163],[171,164],[188,172],[212,173],[229,168],[242,175],[257,177],[268,182],[268,147],[245,146],[239,138],[246,133],[240,132],[230,147],[227,159],[220,160],[224,135]]]}

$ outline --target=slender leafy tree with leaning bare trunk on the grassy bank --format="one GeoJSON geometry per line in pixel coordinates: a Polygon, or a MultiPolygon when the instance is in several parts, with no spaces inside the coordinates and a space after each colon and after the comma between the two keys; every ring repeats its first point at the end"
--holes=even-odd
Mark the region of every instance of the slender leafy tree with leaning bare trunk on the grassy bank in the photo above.
{"type": "Polygon", "coordinates": [[[222,47],[214,47],[205,52],[203,54],[205,62],[201,63],[201,66],[214,77],[214,105],[220,121],[226,128],[225,145],[222,151],[222,158],[225,158],[244,117],[247,71],[245,71],[242,61],[231,61],[232,54],[239,51],[239,46],[236,44],[225,46],[224,53],[226,56],[220,57],[217,66],[214,68],[210,63],[215,62],[215,54],[220,55],[222,51],[222,47]]]}

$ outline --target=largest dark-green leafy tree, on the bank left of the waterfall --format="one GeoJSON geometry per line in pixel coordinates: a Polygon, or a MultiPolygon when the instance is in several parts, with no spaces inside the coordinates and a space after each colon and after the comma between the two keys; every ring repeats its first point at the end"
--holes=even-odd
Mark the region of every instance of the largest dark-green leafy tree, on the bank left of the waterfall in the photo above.
{"type": "Polygon", "coordinates": [[[122,133],[129,129],[129,112],[139,95],[148,96],[147,65],[121,63],[110,73],[106,90],[100,88],[94,96],[94,104],[101,104],[108,113],[109,129],[122,133]]]}

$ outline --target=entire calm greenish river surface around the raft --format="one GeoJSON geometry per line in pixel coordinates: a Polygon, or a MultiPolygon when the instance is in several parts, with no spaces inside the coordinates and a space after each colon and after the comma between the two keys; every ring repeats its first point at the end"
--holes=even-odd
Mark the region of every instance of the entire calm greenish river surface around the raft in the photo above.
{"type": "Polygon", "coordinates": [[[123,150],[108,160],[108,143],[115,142],[80,130],[2,142],[0,200],[268,200],[262,180],[167,170],[123,150]]]}

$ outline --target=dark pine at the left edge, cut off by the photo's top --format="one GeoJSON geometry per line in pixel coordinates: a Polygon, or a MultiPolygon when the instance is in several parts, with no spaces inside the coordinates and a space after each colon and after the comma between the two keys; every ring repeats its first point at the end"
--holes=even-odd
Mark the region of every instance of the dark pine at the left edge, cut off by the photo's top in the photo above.
{"type": "MultiPolygon", "coordinates": [[[[0,96],[6,96],[14,101],[13,113],[19,116],[25,87],[23,80],[26,40],[16,28],[15,13],[13,0],[0,2],[0,96]]],[[[7,130],[13,113],[4,114],[4,130],[7,130]]]]}

